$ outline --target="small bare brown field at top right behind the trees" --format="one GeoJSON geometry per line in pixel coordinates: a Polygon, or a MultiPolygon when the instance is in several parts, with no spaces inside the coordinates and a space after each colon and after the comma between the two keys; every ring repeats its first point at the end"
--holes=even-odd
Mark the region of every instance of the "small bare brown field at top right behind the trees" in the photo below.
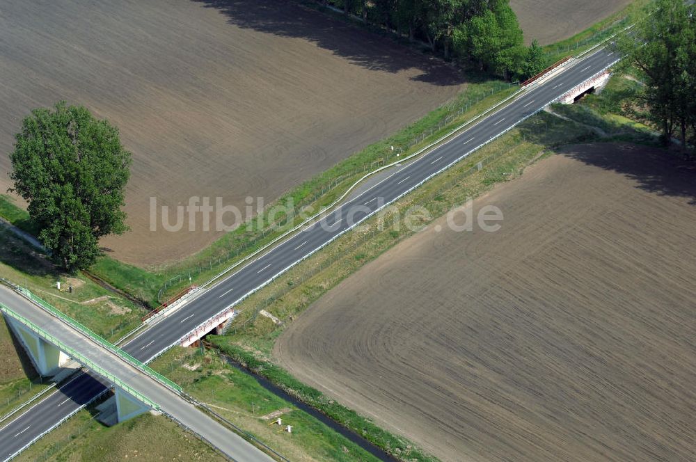
{"type": "Polygon", "coordinates": [[[548,45],[572,37],[631,3],[632,0],[510,0],[527,44],[548,45]]]}

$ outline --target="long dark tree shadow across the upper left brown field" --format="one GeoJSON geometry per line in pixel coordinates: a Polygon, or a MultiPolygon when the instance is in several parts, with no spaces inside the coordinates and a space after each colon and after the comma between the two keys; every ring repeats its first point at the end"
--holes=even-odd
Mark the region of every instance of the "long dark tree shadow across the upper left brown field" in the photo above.
{"type": "Polygon", "coordinates": [[[399,72],[418,69],[413,81],[452,86],[464,83],[464,75],[438,59],[397,44],[377,33],[363,30],[315,10],[285,0],[191,0],[215,8],[228,17],[228,24],[242,29],[303,38],[333,51],[365,69],[399,72]]]}

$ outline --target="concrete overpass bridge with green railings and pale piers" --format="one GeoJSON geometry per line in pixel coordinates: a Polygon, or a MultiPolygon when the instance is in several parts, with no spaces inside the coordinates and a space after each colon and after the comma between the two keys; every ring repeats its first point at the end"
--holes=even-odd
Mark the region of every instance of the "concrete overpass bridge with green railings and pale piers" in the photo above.
{"type": "MultiPolygon", "coordinates": [[[[35,436],[34,430],[36,427],[42,427],[44,422],[55,422],[56,418],[58,421],[62,420],[61,407],[68,404],[66,401],[84,406],[113,387],[118,422],[155,410],[190,429],[230,459],[274,460],[237,433],[198,410],[182,394],[178,385],[26,289],[10,289],[0,285],[0,311],[42,376],[55,374],[72,359],[87,369],[88,374],[83,374],[82,378],[77,377],[71,383],[77,381],[93,384],[95,386],[91,388],[98,390],[95,390],[89,399],[74,400],[74,397],[66,397],[52,408],[46,408],[42,415],[33,415],[41,417],[40,419],[20,422],[19,427],[22,428],[17,427],[17,431],[0,431],[0,448],[3,448],[3,451],[6,447],[16,446],[17,440],[22,441],[25,435],[35,436]]],[[[79,394],[77,396],[79,397],[79,394]]],[[[71,407],[70,404],[65,408],[71,407]]],[[[10,422],[10,425],[12,424],[15,422],[10,422]]],[[[51,427],[44,430],[50,429],[51,427]]],[[[40,431],[38,436],[45,431],[40,431]]],[[[27,438],[22,448],[33,443],[34,439],[27,438]]],[[[3,459],[8,459],[17,452],[19,451],[15,450],[1,455],[3,459]]]]}

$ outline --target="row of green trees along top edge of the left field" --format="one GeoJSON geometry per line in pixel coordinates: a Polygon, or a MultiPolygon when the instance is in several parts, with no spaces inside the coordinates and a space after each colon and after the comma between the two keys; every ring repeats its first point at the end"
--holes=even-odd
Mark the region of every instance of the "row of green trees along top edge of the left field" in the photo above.
{"type": "Polygon", "coordinates": [[[505,79],[525,79],[546,66],[523,33],[509,0],[324,0],[346,14],[426,42],[445,58],[473,63],[505,79]]]}

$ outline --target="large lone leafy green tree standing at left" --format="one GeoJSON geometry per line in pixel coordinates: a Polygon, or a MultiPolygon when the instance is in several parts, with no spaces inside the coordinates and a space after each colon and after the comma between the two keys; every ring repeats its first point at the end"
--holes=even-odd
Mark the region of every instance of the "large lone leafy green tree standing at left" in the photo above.
{"type": "Polygon", "coordinates": [[[29,202],[39,239],[68,271],[99,255],[106,234],[121,234],[131,154],[118,129],[83,106],[35,109],[22,122],[10,154],[14,190],[29,202]]]}

